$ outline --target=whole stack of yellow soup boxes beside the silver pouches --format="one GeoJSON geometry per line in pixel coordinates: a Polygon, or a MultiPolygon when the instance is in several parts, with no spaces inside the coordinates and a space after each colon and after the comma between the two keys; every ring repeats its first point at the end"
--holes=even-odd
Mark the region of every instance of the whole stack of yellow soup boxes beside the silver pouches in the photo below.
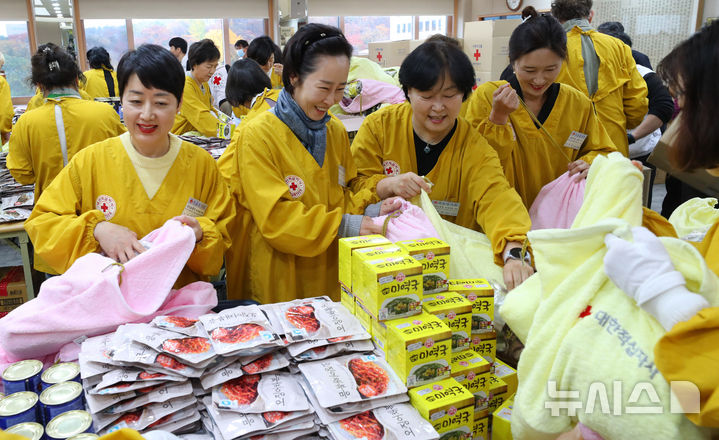
{"type": "Polygon", "coordinates": [[[420,415],[441,436],[488,439],[490,415],[517,389],[516,371],[496,359],[489,282],[450,279],[450,247],[436,238],[345,238],[339,258],[342,303],[420,415]]]}

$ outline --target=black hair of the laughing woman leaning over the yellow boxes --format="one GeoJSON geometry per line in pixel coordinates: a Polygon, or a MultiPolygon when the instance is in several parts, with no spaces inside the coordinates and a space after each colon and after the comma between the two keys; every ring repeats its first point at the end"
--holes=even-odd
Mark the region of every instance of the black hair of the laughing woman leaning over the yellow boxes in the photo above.
{"type": "Polygon", "coordinates": [[[475,85],[474,68],[456,44],[434,40],[419,45],[407,55],[399,68],[399,83],[409,101],[409,89],[431,90],[444,75],[449,75],[467,99],[475,85]]]}

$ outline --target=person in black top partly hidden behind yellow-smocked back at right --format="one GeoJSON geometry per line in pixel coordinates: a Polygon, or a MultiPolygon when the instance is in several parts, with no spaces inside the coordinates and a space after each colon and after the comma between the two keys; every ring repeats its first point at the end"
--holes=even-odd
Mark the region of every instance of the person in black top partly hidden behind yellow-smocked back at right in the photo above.
{"type": "MultiPolygon", "coordinates": [[[[602,23],[597,29],[599,32],[618,38],[627,46],[632,47],[632,39],[629,38],[629,35],[624,31],[616,30],[619,28],[624,29],[621,23],[607,22],[602,23]],[[605,26],[607,24],[610,26],[605,26]]],[[[649,178],[649,200],[651,200],[652,187],[654,186],[654,177],[657,174],[657,168],[650,164],[647,159],[649,159],[649,155],[654,151],[654,147],[662,137],[664,127],[674,114],[674,100],[662,79],[650,67],[649,58],[633,49],[632,55],[635,61],[637,61],[639,74],[642,75],[644,82],[647,83],[649,111],[641,124],[637,125],[633,130],[627,131],[629,158],[640,161],[651,170],[649,178]],[[646,60],[643,60],[642,57],[646,58],[646,60]],[[648,64],[649,66],[647,66],[648,64]]]]}

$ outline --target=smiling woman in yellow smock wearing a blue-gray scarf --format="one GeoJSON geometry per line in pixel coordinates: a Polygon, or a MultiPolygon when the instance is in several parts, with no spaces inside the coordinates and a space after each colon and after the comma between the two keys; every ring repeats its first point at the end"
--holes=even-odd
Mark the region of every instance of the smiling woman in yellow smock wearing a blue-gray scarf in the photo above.
{"type": "MultiPolygon", "coordinates": [[[[277,105],[235,130],[227,148],[236,158],[230,186],[249,232],[239,247],[248,254],[233,260],[245,266],[227,266],[228,280],[244,281],[230,286],[229,298],[269,303],[326,294],[337,300],[337,239],[381,232],[363,215],[377,195],[347,186],[356,175],[347,131],[327,113],[342,99],[351,56],[339,29],[301,27],[285,46],[277,105]]],[[[373,214],[399,206],[390,199],[372,205],[373,214]]]]}

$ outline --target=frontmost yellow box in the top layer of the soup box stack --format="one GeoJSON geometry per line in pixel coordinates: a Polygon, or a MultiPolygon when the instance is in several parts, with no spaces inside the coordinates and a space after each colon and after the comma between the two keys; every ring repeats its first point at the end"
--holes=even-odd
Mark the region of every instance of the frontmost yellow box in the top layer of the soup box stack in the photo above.
{"type": "Polygon", "coordinates": [[[368,312],[380,321],[422,312],[422,265],[412,257],[365,261],[359,290],[353,291],[368,312]]]}

